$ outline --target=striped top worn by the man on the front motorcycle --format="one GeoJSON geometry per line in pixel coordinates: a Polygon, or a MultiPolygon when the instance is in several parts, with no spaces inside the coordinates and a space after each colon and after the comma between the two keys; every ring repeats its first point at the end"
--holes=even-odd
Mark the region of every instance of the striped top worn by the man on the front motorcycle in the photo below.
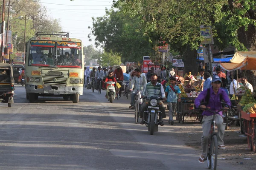
{"type": "Polygon", "coordinates": [[[142,96],[157,96],[157,97],[165,97],[165,92],[163,89],[163,85],[161,83],[157,82],[157,84],[154,86],[151,82],[148,82],[145,85],[145,88],[143,89],[142,96]]]}

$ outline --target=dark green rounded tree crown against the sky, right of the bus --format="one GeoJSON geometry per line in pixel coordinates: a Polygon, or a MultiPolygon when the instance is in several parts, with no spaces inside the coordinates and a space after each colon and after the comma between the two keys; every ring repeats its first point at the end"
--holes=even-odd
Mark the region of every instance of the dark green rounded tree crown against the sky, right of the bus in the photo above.
{"type": "Polygon", "coordinates": [[[128,14],[119,10],[107,10],[103,17],[93,18],[91,35],[95,36],[95,45],[106,52],[117,53],[122,62],[142,61],[143,56],[154,54],[148,37],[140,31],[137,18],[129,18],[128,14]]]}

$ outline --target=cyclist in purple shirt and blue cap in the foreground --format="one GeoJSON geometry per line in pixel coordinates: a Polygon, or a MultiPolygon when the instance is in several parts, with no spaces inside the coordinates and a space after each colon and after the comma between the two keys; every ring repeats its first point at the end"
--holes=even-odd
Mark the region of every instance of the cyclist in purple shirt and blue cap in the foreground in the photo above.
{"type": "MultiPolygon", "coordinates": [[[[197,108],[205,109],[206,107],[212,111],[218,111],[222,108],[221,100],[224,100],[228,106],[225,106],[224,109],[228,109],[231,106],[231,102],[227,93],[221,89],[221,78],[215,75],[212,77],[212,87],[205,89],[199,96],[195,99],[195,106],[197,108]],[[208,101],[207,101],[208,100],[208,101]],[[205,105],[201,105],[201,102],[206,102],[205,105]]],[[[199,163],[204,163],[205,158],[207,157],[208,143],[211,134],[211,122],[213,119],[213,113],[210,111],[204,111],[202,113],[204,116],[202,120],[202,155],[199,158],[199,163]],[[207,140],[208,139],[208,140],[207,140]]],[[[218,127],[217,139],[218,139],[218,149],[225,149],[223,137],[225,132],[225,125],[223,123],[222,111],[215,115],[215,122],[218,127]]]]}

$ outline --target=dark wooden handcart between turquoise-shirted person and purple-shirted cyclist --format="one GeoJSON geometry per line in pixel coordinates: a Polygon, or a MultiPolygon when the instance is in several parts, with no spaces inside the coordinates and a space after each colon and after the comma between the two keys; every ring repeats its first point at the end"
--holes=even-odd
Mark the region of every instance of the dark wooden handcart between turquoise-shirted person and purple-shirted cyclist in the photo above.
{"type": "Polygon", "coordinates": [[[177,120],[184,124],[185,116],[194,117],[197,121],[201,122],[203,116],[198,109],[194,106],[195,98],[181,98],[180,102],[177,102],[177,120]]]}

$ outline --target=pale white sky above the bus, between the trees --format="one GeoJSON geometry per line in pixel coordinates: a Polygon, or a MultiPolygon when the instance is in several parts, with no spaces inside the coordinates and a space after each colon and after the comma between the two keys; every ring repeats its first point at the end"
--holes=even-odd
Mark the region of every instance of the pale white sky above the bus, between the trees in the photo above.
{"type": "Polygon", "coordinates": [[[92,27],[92,17],[105,15],[105,8],[111,8],[112,0],[41,0],[48,15],[60,20],[62,31],[69,32],[70,38],[82,40],[84,46],[94,45],[87,37],[90,33],[88,26],[92,27]]]}

